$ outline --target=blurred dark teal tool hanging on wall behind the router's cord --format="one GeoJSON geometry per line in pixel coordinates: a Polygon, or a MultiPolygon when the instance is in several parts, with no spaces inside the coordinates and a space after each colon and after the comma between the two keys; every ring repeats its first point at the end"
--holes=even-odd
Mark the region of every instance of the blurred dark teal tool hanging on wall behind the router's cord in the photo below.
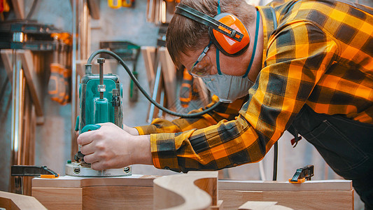
{"type": "MultiPolygon", "coordinates": [[[[100,48],[111,50],[119,55],[125,61],[132,62],[132,73],[137,79],[139,73],[136,71],[137,60],[139,59],[141,47],[129,41],[101,41],[100,48]]],[[[110,56],[103,54],[101,57],[110,58],[110,56]]],[[[137,102],[139,97],[139,88],[134,85],[134,81],[129,82],[129,102],[137,102]]]]}

